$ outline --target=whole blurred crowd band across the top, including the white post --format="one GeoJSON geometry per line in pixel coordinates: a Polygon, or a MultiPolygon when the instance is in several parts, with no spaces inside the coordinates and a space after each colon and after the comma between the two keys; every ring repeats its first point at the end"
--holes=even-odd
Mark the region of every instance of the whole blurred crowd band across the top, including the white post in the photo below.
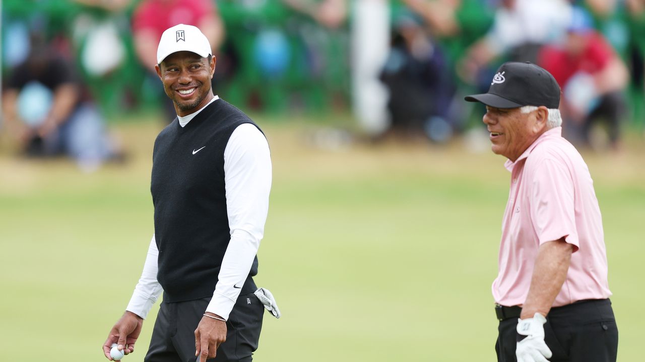
{"type": "Polygon", "coordinates": [[[3,129],[28,153],[99,164],[118,150],[103,116],[159,108],[164,29],[194,24],[217,56],[213,88],[244,109],[352,109],[366,133],[445,142],[481,111],[504,61],[531,61],[563,90],[564,135],[618,147],[642,115],[645,0],[3,1],[3,129]],[[640,112],[640,113],[639,113],[640,112]]]}

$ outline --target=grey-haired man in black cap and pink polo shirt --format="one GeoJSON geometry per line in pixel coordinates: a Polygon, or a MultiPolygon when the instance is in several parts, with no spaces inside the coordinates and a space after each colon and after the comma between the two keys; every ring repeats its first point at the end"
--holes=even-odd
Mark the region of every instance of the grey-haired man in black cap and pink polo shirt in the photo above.
{"type": "Polygon", "coordinates": [[[602,218],[578,151],[561,136],[560,87],[530,62],[507,62],[484,123],[508,160],[510,194],[493,281],[500,362],[616,361],[602,218]]]}

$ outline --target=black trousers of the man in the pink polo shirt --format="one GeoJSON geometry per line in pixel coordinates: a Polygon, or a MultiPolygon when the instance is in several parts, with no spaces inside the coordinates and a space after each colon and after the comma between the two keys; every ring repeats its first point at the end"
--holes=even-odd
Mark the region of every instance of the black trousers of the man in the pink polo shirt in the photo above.
{"type": "MultiPolygon", "coordinates": [[[[516,362],[517,318],[499,322],[497,361],[516,362]]],[[[544,324],[551,362],[615,362],[618,327],[611,301],[586,300],[552,308],[544,324]]]]}

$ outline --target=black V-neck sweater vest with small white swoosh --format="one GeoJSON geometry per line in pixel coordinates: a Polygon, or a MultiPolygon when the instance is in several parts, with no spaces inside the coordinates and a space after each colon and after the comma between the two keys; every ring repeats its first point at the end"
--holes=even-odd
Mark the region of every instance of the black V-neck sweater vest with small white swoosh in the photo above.
{"type": "MultiPolygon", "coordinates": [[[[155,140],[150,191],[159,249],[157,280],[166,302],[205,298],[215,291],[230,241],[224,149],[244,123],[255,125],[218,99],[184,128],[175,119],[155,140]]],[[[250,276],[255,274],[257,257],[250,276]]],[[[248,278],[241,292],[253,292],[251,284],[248,278]]]]}

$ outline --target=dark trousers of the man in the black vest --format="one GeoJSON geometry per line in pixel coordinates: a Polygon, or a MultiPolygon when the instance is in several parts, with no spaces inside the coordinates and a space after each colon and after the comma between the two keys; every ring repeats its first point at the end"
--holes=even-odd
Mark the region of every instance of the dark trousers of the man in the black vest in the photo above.
{"type": "MultiPolygon", "coordinates": [[[[161,302],[145,362],[195,362],[195,329],[210,297],[177,303],[161,302]]],[[[226,321],[226,341],[208,362],[250,362],[257,350],[264,307],[255,294],[240,294],[226,321]]]]}

